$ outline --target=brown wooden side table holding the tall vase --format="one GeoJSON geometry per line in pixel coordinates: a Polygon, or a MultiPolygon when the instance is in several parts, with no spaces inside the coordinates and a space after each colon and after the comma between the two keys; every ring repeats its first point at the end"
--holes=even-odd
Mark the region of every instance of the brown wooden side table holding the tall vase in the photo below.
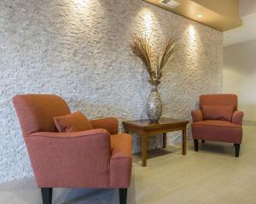
{"type": "Polygon", "coordinates": [[[186,127],[189,121],[172,118],[160,118],[159,122],[149,122],[148,119],[123,122],[125,133],[137,133],[142,137],[143,144],[143,167],[147,166],[148,137],[163,134],[163,148],[166,148],[166,133],[183,131],[183,155],[187,153],[186,127]]]}

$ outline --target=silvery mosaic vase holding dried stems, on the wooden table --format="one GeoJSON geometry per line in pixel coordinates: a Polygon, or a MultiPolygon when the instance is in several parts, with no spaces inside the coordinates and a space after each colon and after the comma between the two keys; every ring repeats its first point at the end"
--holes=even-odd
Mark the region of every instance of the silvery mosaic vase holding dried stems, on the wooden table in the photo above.
{"type": "Polygon", "coordinates": [[[150,122],[158,122],[162,115],[163,105],[158,93],[158,83],[151,83],[152,89],[147,101],[147,115],[150,122]]]}

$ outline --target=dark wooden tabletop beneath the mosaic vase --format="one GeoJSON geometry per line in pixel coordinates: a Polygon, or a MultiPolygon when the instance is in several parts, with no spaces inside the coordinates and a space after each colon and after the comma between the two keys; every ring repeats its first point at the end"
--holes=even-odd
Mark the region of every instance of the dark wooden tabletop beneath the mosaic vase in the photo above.
{"type": "Polygon", "coordinates": [[[189,121],[186,121],[186,120],[179,120],[179,119],[173,119],[168,117],[162,117],[158,122],[150,122],[148,119],[123,122],[124,126],[137,127],[137,128],[143,128],[143,129],[154,129],[154,128],[160,128],[160,127],[186,125],[188,123],[189,121]]]}

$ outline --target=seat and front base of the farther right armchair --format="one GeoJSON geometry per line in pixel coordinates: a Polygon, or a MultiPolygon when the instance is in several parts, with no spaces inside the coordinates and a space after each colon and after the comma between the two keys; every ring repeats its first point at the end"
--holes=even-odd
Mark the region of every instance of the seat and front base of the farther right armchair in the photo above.
{"type": "Polygon", "coordinates": [[[192,123],[194,139],[241,144],[242,128],[232,122],[206,120],[192,123]]]}

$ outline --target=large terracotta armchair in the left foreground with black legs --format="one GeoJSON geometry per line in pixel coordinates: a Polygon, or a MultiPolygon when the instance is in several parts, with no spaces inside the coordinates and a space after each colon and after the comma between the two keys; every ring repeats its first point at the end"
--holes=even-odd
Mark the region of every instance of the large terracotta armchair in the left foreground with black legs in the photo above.
{"type": "Polygon", "coordinates": [[[118,133],[118,120],[90,121],[95,129],[58,133],[54,117],[70,114],[55,95],[17,95],[14,105],[43,203],[52,188],[118,188],[126,203],[131,180],[131,136],[118,133]]]}

